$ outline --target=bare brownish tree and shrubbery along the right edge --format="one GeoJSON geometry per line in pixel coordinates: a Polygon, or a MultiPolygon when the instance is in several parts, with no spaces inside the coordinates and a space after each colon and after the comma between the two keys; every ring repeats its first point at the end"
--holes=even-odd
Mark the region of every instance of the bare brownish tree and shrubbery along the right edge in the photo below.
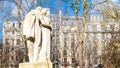
{"type": "Polygon", "coordinates": [[[102,14],[106,16],[109,22],[113,22],[114,24],[110,28],[112,29],[112,31],[108,33],[111,34],[111,38],[107,39],[105,52],[103,53],[103,62],[105,68],[117,68],[120,66],[119,63],[120,12],[119,12],[119,8],[116,5],[114,5],[112,2],[109,2],[108,4],[109,6],[106,6],[106,10],[102,11],[102,14]]]}

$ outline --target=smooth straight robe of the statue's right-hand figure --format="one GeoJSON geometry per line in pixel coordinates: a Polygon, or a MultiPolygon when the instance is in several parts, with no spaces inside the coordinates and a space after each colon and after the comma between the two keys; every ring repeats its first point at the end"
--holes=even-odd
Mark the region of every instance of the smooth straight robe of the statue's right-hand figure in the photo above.
{"type": "MultiPolygon", "coordinates": [[[[47,13],[49,14],[49,12],[47,13]]],[[[40,17],[42,25],[50,26],[50,18],[49,15],[44,15],[40,17]]],[[[39,54],[40,62],[50,61],[50,29],[42,26],[42,48],[39,54]]]]}

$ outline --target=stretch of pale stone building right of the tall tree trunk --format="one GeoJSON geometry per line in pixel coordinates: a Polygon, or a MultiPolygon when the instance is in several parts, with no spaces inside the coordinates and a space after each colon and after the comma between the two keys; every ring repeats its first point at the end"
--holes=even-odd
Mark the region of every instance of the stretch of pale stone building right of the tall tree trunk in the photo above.
{"type": "Polygon", "coordinates": [[[118,29],[115,28],[116,25],[118,25],[118,23],[114,19],[108,19],[106,16],[100,14],[90,15],[90,21],[86,25],[86,47],[89,50],[97,46],[97,48],[92,51],[93,53],[89,53],[90,51],[87,53],[89,59],[95,58],[92,61],[94,65],[102,62],[101,56],[104,52],[105,45],[107,45],[108,40],[112,38],[112,34],[118,31],[118,29]]]}

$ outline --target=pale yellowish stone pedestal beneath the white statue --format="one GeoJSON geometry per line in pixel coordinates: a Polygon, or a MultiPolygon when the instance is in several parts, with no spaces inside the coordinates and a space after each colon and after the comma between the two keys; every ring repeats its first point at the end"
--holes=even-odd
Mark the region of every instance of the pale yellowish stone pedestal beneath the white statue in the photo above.
{"type": "Polygon", "coordinates": [[[20,63],[19,68],[53,68],[51,62],[20,63]]]}

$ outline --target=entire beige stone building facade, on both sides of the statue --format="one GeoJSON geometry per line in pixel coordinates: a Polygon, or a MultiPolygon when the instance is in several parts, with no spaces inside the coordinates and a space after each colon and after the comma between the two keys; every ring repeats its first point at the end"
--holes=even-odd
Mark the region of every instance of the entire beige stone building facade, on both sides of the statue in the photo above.
{"type": "MultiPolygon", "coordinates": [[[[79,67],[80,49],[76,35],[74,16],[50,15],[52,26],[51,60],[56,68],[79,67]]],[[[82,18],[79,17],[79,32],[81,33],[82,18]]],[[[15,66],[21,60],[18,59],[22,44],[21,23],[4,22],[3,24],[3,66],[15,66]],[[7,62],[7,63],[5,63],[7,62]],[[8,64],[9,63],[9,64],[8,64]],[[17,63],[17,64],[15,64],[17,63]]],[[[107,40],[111,38],[115,20],[106,19],[99,14],[91,14],[87,17],[84,39],[84,66],[95,68],[101,63],[101,55],[107,40]],[[105,22],[105,23],[103,23],[105,22]]],[[[116,29],[117,31],[117,29],[116,29]]],[[[23,57],[23,56],[22,56],[23,57]]]]}

